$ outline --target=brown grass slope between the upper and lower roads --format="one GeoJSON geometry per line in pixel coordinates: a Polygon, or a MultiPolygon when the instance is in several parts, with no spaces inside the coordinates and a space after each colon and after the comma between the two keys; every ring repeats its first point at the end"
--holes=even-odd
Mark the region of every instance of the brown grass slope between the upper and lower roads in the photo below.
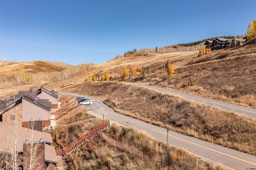
{"type": "Polygon", "coordinates": [[[110,107],[118,102],[113,109],[124,115],[256,155],[254,120],[125,83],[85,82],[65,90],[110,107]]]}

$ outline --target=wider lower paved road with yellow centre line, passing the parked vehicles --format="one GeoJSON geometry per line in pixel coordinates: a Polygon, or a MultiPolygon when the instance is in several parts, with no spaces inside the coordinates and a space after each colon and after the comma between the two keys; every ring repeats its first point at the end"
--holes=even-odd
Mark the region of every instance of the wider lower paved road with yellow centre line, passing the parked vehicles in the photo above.
{"type": "MultiPolygon", "coordinates": [[[[72,93],[61,93],[74,97],[80,96],[72,93]]],[[[92,111],[89,111],[90,114],[100,118],[103,118],[104,114],[105,118],[109,118],[114,122],[120,123],[121,125],[134,127],[140,131],[147,132],[148,135],[166,142],[166,128],[157,127],[155,125],[116,113],[113,111],[113,109],[102,103],[100,100],[92,97],[87,98],[91,99],[93,102],[91,105],[92,111]]],[[[256,168],[256,156],[200,140],[192,136],[180,134],[178,132],[169,130],[168,143],[231,169],[246,170],[246,168],[256,168]]]]}

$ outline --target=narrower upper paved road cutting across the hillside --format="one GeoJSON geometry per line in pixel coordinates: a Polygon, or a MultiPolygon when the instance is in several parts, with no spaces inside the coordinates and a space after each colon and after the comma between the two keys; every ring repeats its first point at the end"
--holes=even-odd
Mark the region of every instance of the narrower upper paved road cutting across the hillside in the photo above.
{"type": "Polygon", "coordinates": [[[188,95],[186,93],[180,93],[177,91],[163,89],[163,88],[155,87],[155,86],[151,86],[151,85],[143,85],[143,84],[136,84],[136,83],[130,83],[130,84],[138,85],[141,87],[147,87],[149,89],[153,89],[156,91],[160,91],[160,92],[164,92],[164,93],[168,93],[168,94],[172,94],[172,95],[177,95],[177,96],[189,99],[190,101],[194,101],[196,103],[202,103],[207,106],[215,107],[218,109],[222,109],[224,111],[229,111],[229,112],[233,112],[233,113],[236,113],[239,115],[250,117],[252,119],[256,119],[256,109],[252,109],[249,107],[243,107],[240,105],[234,105],[234,104],[211,100],[211,99],[206,99],[206,98],[198,97],[198,96],[194,96],[194,95],[188,95]]]}

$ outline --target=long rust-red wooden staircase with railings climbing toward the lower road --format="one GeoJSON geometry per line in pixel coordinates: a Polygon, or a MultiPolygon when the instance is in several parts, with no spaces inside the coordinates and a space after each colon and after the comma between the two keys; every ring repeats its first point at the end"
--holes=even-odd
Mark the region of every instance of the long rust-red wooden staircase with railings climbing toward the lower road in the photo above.
{"type": "Polygon", "coordinates": [[[78,138],[74,142],[72,142],[70,145],[68,145],[64,150],[56,150],[57,155],[68,156],[73,150],[81,146],[82,144],[92,140],[95,136],[97,136],[100,132],[102,132],[107,125],[110,123],[110,119],[105,119],[103,122],[92,129],[88,134],[78,138]]]}

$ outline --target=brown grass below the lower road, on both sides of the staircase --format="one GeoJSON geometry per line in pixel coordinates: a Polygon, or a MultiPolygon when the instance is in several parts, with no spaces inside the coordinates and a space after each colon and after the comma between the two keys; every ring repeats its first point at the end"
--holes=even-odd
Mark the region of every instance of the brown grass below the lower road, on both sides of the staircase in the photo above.
{"type": "MultiPolygon", "coordinates": [[[[70,101],[62,103],[63,107],[68,110],[74,108],[72,97],[66,96],[65,98],[70,101]]],[[[100,121],[86,113],[84,107],[74,109],[65,115],[56,115],[56,118],[58,125],[55,130],[52,130],[52,133],[57,133],[60,136],[64,146],[94,128],[100,121]]],[[[117,124],[112,124],[111,127],[108,126],[106,128],[105,133],[115,140],[141,150],[144,153],[144,160],[142,161],[138,156],[111,146],[104,138],[98,135],[90,141],[92,147],[84,144],[68,156],[66,160],[68,168],[71,170],[109,169],[110,163],[113,169],[125,170],[223,169],[221,166],[216,166],[211,162],[188,154],[182,149],[167,147],[164,142],[156,141],[134,128],[124,128],[117,124]]],[[[56,149],[58,149],[57,145],[56,149]]]]}

